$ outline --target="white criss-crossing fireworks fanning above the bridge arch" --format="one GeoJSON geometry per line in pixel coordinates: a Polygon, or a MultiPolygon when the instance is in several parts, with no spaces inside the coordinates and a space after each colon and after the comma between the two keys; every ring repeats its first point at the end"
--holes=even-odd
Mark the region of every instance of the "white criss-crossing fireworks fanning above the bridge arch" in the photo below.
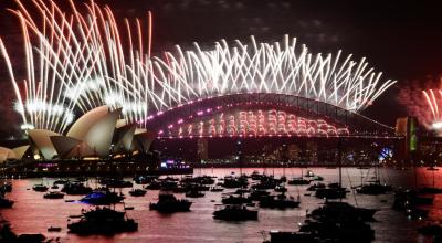
{"type": "Polygon", "coordinates": [[[341,61],[340,51],[335,57],[323,56],[309,53],[305,45],[297,51],[296,39],[288,35],[272,44],[257,43],[252,36],[251,45],[236,41],[233,47],[221,41],[211,51],[194,45],[192,51],[177,46],[175,54],[154,57],[158,72],[150,65],[141,72],[150,71],[154,81],[133,92],[148,94],[155,112],[241,93],[287,94],[359,112],[396,83],[381,82],[381,73],[368,68],[365,59],[355,62],[349,55],[341,61]]]}

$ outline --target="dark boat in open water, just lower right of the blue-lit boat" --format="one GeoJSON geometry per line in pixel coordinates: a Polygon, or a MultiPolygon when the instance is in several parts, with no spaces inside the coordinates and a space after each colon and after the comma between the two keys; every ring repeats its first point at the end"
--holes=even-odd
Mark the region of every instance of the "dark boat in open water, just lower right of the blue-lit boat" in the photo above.
{"type": "Polygon", "coordinates": [[[150,203],[150,210],[157,210],[158,212],[172,213],[172,212],[188,212],[192,202],[186,199],[177,199],[173,194],[160,193],[158,196],[158,202],[150,203]]]}

